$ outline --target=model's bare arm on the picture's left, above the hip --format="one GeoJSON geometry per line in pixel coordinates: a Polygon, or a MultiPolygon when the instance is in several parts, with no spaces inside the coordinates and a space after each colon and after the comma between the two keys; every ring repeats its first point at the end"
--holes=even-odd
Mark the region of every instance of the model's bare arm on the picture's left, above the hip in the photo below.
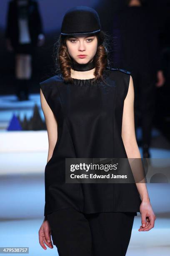
{"type": "Polygon", "coordinates": [[[55,119],[55,116],[52,110],[47,104],[47,101],[45,100],[45,97],[41,89],[40,89],[40,101],[41,101],[41,108],[45,117],[45,123],[47,126],[48,144],[49,144],[48,157],[47,157],[47,162],[48,162],[52,157],[55,144],[57,142],[57,121],[55,119]]]}

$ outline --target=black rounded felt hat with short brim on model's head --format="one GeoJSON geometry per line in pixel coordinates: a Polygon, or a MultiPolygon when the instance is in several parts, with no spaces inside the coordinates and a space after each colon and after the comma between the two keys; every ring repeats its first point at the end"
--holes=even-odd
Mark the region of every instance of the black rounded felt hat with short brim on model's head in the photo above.
{"type": "Polygon", "coordinates": [[[87,6],[76,6],[65,13],[62,20],[61,35],[97,33],[100,30],[98,13],[87,6]]]}

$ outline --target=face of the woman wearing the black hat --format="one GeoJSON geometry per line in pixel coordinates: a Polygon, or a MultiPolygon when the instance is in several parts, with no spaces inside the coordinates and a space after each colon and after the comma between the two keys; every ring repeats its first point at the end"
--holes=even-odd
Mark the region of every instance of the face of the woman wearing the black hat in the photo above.
{"type": "Polygon", "coordinates": [[[68,53],[77,63],[86,64],[96,54],[97,36],[90,34],[69,36],[66,45],[68,53]]]}

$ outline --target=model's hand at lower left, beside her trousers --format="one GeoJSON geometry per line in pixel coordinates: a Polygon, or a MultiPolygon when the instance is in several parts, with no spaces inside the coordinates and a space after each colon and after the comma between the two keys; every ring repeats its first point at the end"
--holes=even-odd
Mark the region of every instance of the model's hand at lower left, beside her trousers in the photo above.
{"type": "Polygon", "coordinates": [[[39,233],[40,246],[42,246],[44,250],[47,249],[45,244],[49,248],[53,248],[52,241],[51,241],[51,228],[48,220],[43,221],[38,233],[39,233]]]}

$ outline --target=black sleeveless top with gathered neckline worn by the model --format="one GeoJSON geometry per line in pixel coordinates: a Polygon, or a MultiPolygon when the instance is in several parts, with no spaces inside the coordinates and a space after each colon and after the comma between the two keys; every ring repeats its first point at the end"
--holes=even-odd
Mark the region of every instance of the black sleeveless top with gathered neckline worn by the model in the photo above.
{"type": "Polygon", "coordinates": [[[44,215],[73,207],[84,213],[140,212],[135,183],[65,183],[65,158],[127,158],[122,114],[130,72],[106,68],[105,82],[62,75],[40,82],[57,120],[57,143],[45,166],[44,215]]]}

